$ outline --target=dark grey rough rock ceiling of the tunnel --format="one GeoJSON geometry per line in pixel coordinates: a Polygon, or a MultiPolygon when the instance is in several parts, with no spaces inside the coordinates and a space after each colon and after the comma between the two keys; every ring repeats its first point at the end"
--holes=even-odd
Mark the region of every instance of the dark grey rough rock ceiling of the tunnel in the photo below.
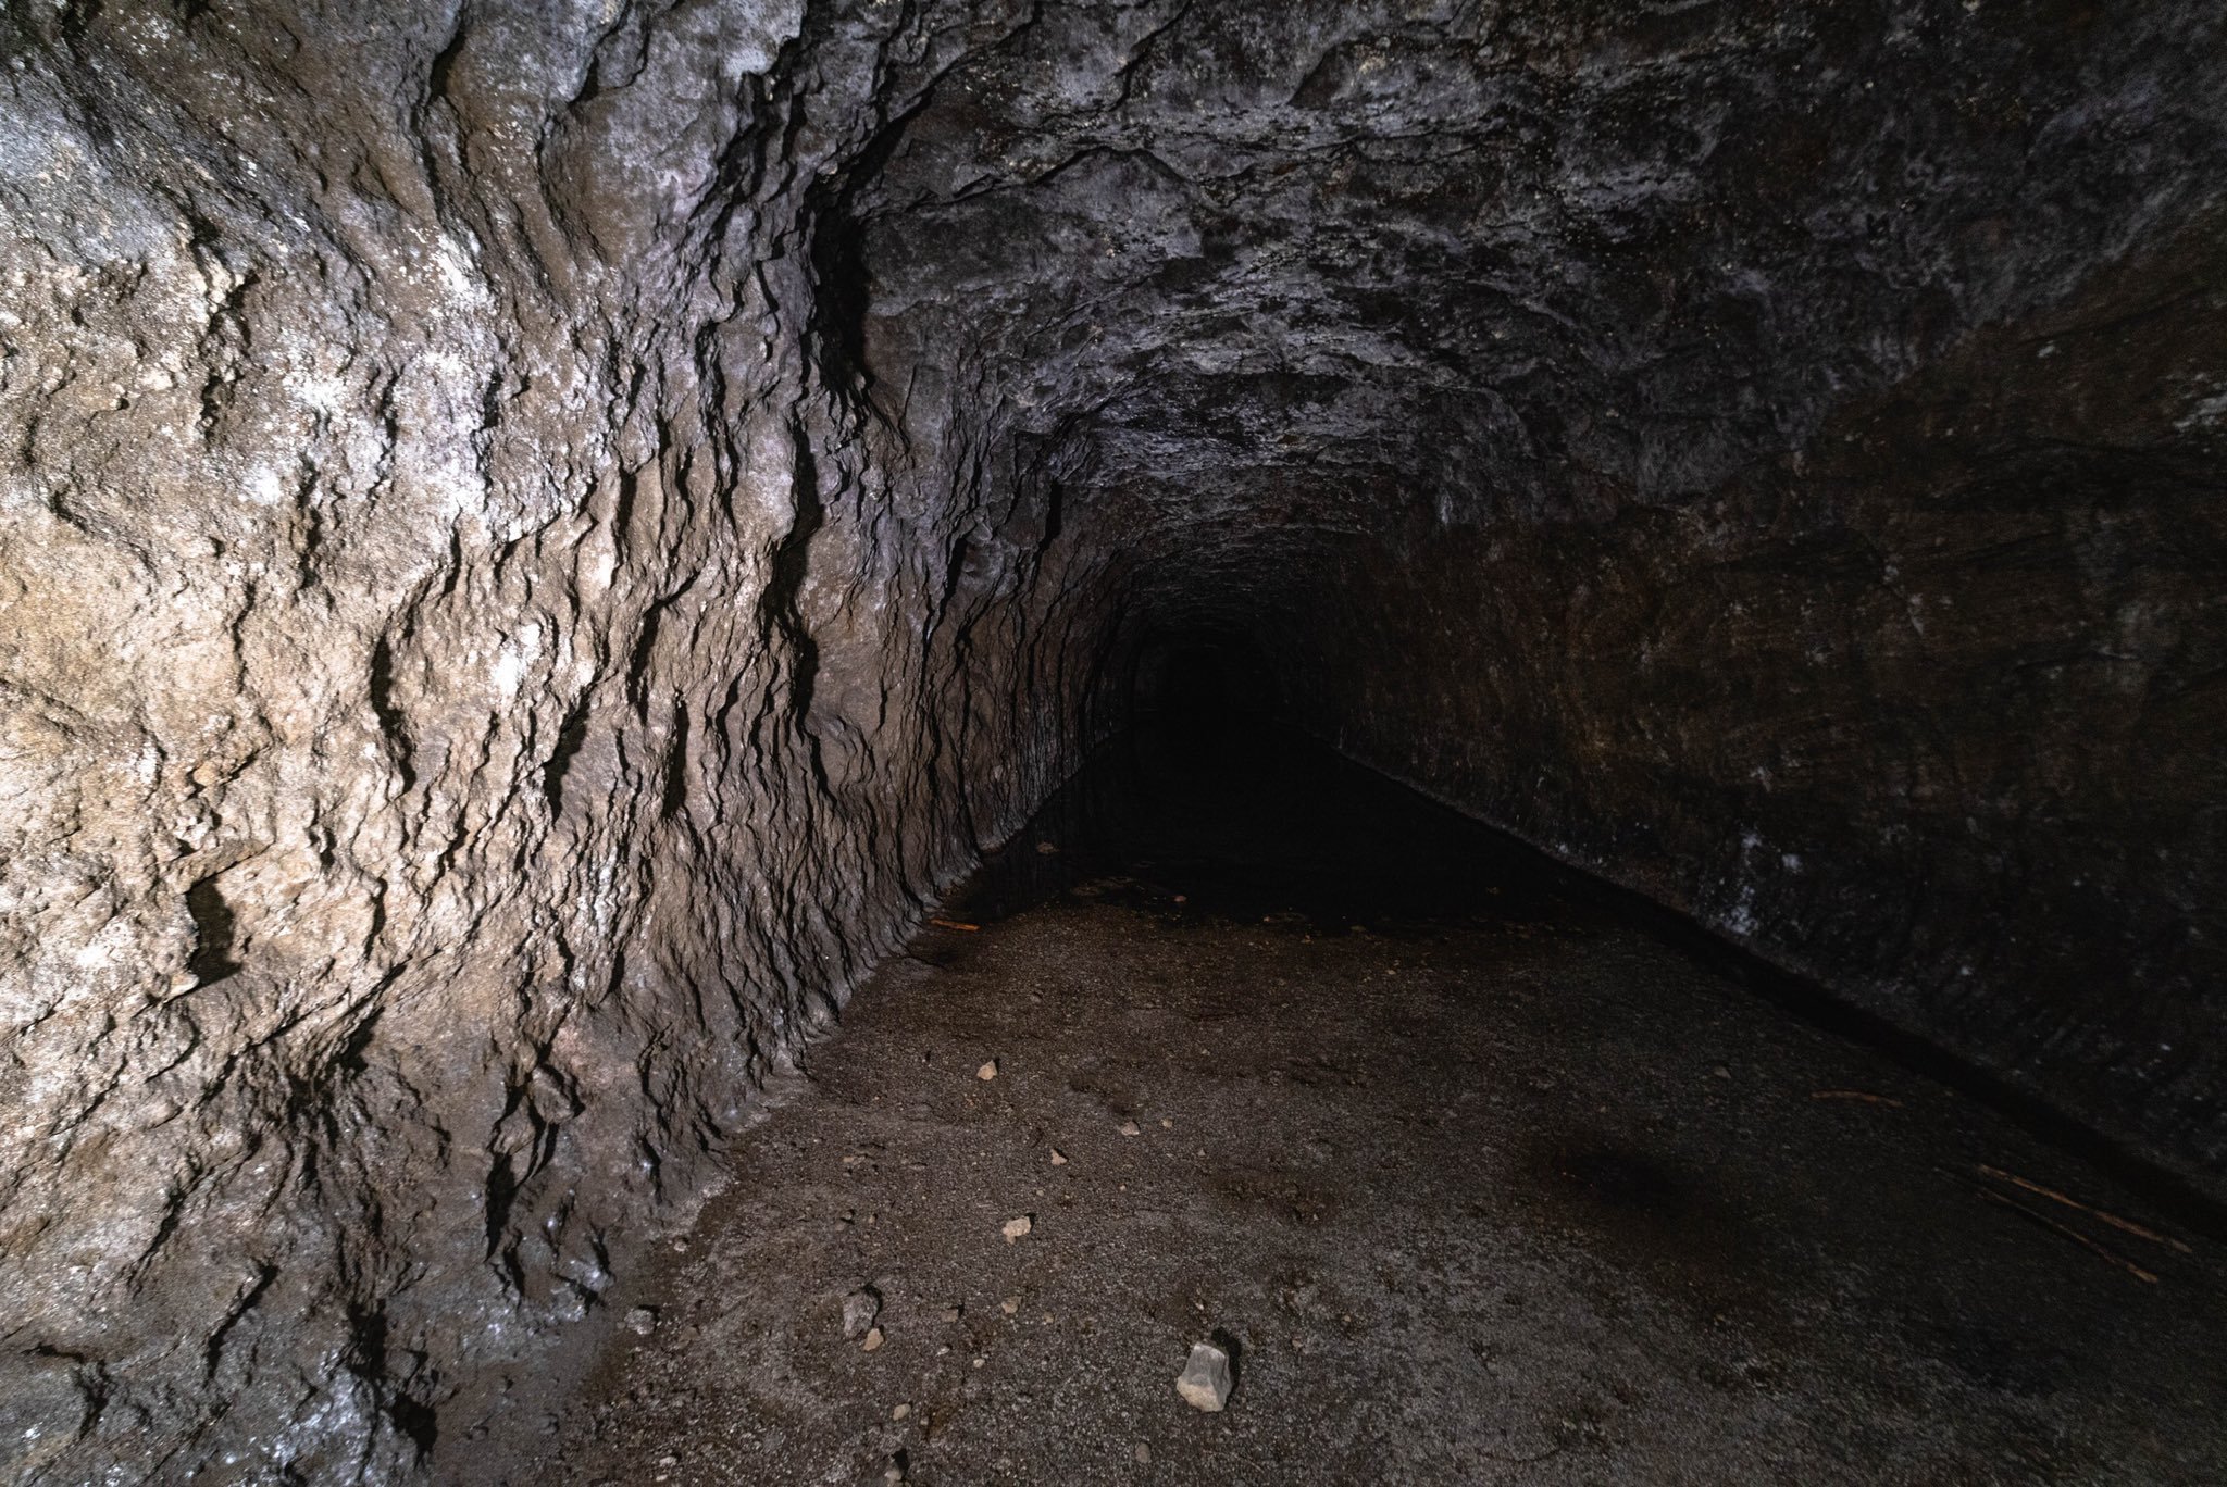
{"type": "Polygon", "coordinates": [[[1169,552],[1679,508],[2207,200],[2180,22],[2040,20],[1040,7],[822,260],[882,410],[958,376],[1169,552]]]}

